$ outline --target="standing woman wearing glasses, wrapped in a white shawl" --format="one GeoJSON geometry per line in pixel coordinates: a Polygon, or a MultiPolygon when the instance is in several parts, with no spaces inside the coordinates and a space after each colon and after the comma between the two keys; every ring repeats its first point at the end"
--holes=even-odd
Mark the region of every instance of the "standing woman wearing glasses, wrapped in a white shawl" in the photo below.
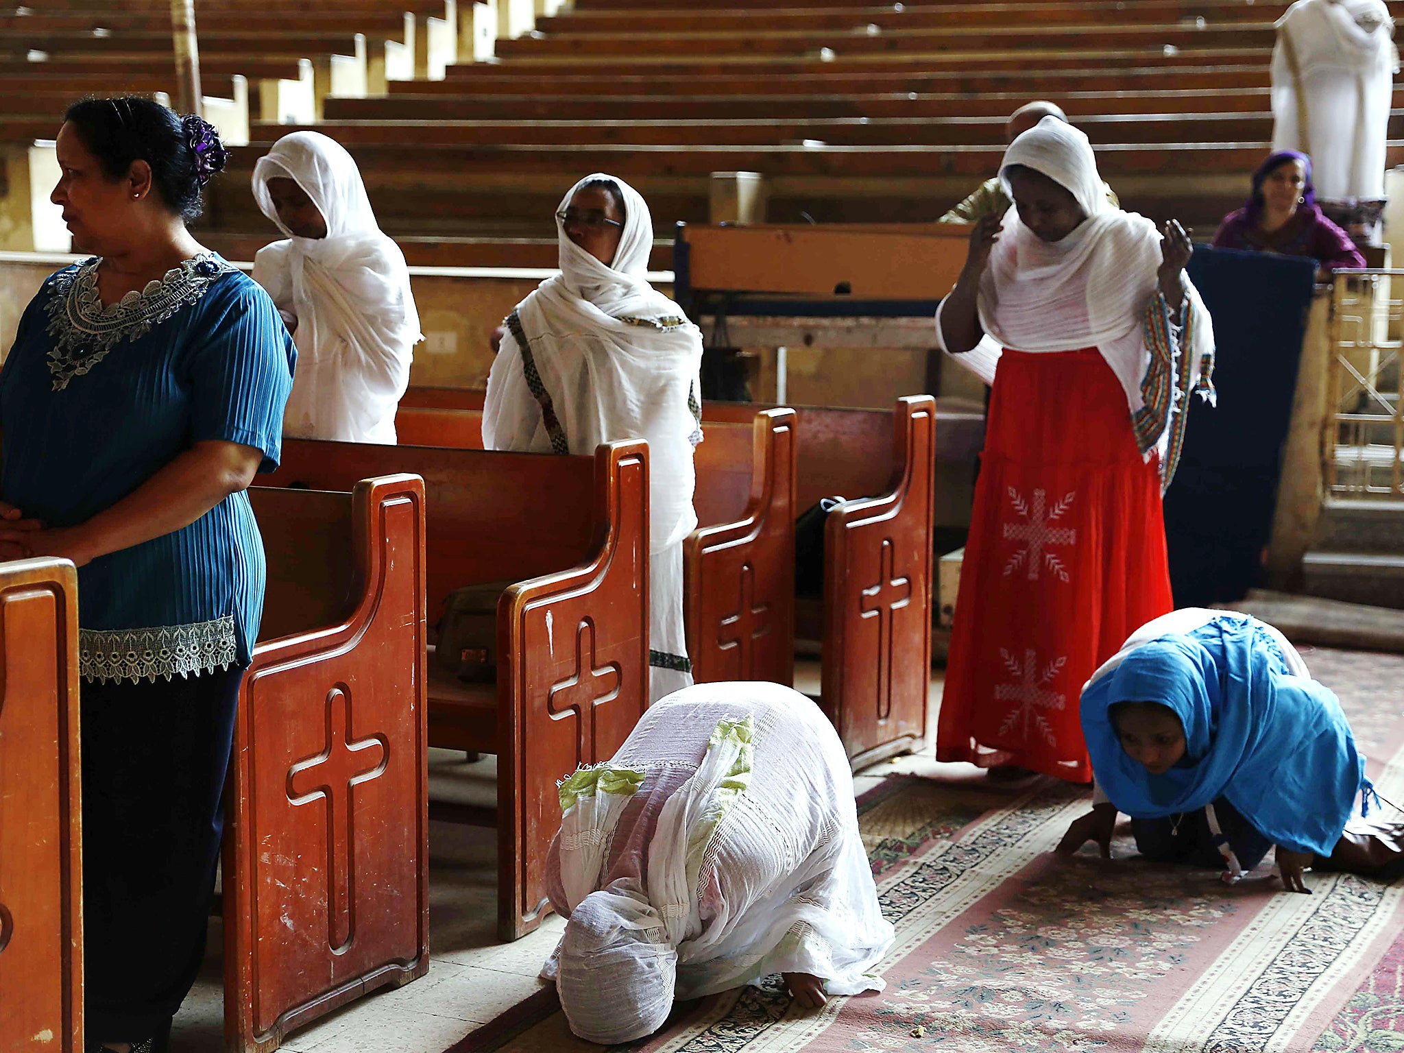
{"type": "Polygon", "coordinates": [[[623,180],[595,173],[556,212],[560,274],[507,317],[487,376],[483,445],[592,453],[649,441],[653,701],[692,682],[682,542],[698,525],[692,448],[702,441],[702,333],[646,279],[653,218],[623,180]]]}

